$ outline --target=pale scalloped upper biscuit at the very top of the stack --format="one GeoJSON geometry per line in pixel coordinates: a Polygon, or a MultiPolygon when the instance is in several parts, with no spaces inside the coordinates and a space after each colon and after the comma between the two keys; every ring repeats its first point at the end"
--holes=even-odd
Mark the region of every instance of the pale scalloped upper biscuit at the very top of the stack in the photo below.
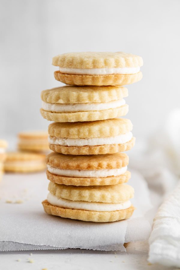
{"type": "Polygon", "coordinates": [[[141,67],[143,59],[125,52],[70,52],[53,57],[52,64],[70,68],[141,67]]]}

